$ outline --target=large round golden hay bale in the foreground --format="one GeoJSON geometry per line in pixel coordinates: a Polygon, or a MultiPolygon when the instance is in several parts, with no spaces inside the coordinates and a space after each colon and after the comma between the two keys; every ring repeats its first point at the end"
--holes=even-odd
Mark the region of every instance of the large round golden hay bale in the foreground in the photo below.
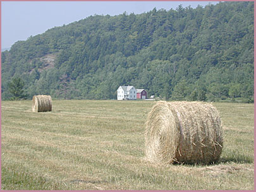
{"type": "Polygon", "coordinates": [[[222,151],[222,125],[212,104],[159,101],[145,130],[146,158],[157,163],[216,162],[222,151]]]}

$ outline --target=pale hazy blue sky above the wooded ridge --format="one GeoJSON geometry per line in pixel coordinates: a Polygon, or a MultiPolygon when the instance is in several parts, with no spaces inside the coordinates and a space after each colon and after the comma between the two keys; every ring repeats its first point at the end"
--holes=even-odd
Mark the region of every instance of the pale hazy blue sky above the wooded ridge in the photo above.
{"type": "Polygon", "coordinates": [[[219,1],[1,1],[1,48],[94,14],[140,14],[154,8],[176,9],[180,4],[196,8],[209,3],[219,1]]]}

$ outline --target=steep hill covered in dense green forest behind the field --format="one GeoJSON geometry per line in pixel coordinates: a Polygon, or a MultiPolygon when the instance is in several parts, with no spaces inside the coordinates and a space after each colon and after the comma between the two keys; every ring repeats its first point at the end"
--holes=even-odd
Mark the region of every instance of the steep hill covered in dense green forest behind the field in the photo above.
{"type": "Polygon", "coordinates": [[[253,2],[89,16],[2,52],[2,99],[24,93],[116,99],[120,85],[163,99],[253,99],[253,2]]]}

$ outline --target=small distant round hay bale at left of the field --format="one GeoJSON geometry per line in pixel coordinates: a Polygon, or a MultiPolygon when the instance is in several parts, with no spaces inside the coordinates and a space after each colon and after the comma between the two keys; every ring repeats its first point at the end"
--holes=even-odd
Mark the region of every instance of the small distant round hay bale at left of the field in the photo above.
{"type": "Polygon", "coordinates": [[[33,96],[32,111],[43,112],[52,110],[52,98],[48,95],[33,96]]]}

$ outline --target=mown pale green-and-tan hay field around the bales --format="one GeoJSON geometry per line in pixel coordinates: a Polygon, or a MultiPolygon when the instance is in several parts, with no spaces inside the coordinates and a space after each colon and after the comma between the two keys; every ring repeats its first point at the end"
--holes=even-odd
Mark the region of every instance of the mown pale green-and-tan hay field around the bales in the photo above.
{"type": "Polygon", "coordinates": [[[224,130],[214,165],[145,161],[145,120],[155,101],[2,101],[1,189],[254,189],[253,104],[214,103],[224,130]]]}

